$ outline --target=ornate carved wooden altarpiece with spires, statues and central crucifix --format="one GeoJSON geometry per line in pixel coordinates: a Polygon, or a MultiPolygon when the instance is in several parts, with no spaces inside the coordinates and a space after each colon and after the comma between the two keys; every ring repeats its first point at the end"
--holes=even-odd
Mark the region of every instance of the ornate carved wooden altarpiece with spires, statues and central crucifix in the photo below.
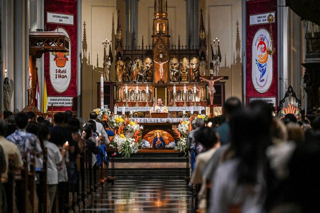
{"type": "MultiPolygon", "coordinates": [[[[206,62],[206,37],[200,10],[199,44],[170,45],[167,5],[156,0],[154,6],[152,45],[136,46],[134,33],[131,45],[123,46],[122,29],[116,29],[116,106],[151,106],[158,97],[167,106],[207,106],[207,86],[200,76],[209,77],[206,62]]],[[[120,11],[117,12],[119,20],[120,11]]],[[[216,76],[215,76],[216,77],[216,76]]],[[[224,102],[224,83],[218,89],[215,105],[224,102]],[[222,87],[223,88],[222,88],[222,87]]]]}

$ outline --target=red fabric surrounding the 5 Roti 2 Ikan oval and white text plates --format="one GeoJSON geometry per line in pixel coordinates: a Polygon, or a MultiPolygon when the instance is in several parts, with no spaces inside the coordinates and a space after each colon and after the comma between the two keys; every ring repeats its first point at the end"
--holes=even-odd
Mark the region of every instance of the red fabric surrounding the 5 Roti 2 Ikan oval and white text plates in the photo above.
{"type": "MultiPolygon", "coordinates": [[[[44,0],[44,24],[46,24],[47,29],[53,31],[56,28],[63,28],[69,34],[70,46],[71,46],[71,79],[68,88],[62,92],[56,92],[50,82],[50,72],[49,72],[49,53],[44,54],[44,74],[45,82],[48,96],[72,96],[73,105],[72,107],[53,107],[54,111],[65,111],[72,110],[76,111],[77,109],[77,97],[76,97],[76,36],[77,36],[77,1],[76,0],[44,0]],[[57,12],[63,14],[73,15],[73,25],[66,24],[56,24],[56,23],[47,23],[47,12],[57,12]]],[[[50,106],[48,106],[50,110],[50,106]]]]}

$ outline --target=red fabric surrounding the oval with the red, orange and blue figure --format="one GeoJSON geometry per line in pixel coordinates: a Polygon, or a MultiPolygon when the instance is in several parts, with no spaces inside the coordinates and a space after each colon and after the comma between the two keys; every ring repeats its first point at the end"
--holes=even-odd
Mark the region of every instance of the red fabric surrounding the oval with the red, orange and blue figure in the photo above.
{"type": "Polygon", "coordinates": [[[275,102],[277,103],[277,13],[276,7],[271,7],[276,5],[276,0],[253,0],[246,2],[246,102],[249,101],[251,97],[275,97],[275,102]],[[270,12],[270,8],[275,12],[275,21],[272,23],[272,37],[273,44],[275,48],[275,53],[272,56],[272,81],[269,89],[263,93],[258,92],[252,82],[252,60],[255,60],[255,55],[252,56],[252,41],[255,33],[261,29],[265,28],[269,31],[270,24],[255,24],[250,25],[249,17],[250,15],[260,14],[270,12]],[[275,9],[274,9],[275,8],[275,9]]]}

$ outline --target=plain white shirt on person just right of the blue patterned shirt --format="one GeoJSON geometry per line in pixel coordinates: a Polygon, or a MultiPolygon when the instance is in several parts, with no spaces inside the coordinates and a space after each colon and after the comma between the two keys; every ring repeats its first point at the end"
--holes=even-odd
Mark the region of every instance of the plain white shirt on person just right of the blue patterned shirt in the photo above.
{"type": "Polygon", "coordinates": [[[57,164],[62,161],[62,155],[59,148],[54,143],[43,140],[43,145],[47,150],[46,183],[58,184],[57,164]]]}

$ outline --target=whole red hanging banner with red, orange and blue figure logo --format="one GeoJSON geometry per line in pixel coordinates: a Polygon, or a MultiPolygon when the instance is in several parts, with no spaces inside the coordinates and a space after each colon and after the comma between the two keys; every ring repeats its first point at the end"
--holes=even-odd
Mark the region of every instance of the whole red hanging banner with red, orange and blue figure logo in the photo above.
{"type": "Polygon", "coordinates": [[[276,0],[246,1],[246,102],[262,99],[277,105],[277,13],[276,0]],[[270,11],[270,8],[273,9],[270,11]],[[267,20],[272,14],[274,21],[267,20]],[[272,39],[273,38],[273,39],[272,39]],[[273,40],[275,53],[267,54],[273,40]]]}

